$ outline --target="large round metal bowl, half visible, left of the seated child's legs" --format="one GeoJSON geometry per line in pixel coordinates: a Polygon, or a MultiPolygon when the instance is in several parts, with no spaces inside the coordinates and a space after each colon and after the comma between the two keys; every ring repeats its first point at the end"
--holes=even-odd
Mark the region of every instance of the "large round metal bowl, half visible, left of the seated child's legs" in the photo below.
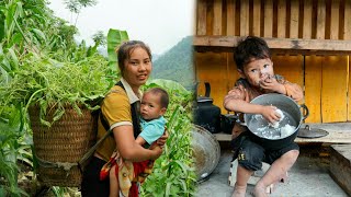
{"type": "Polygon", "coordinates": [[[217,166],[220,147],[217,139],[205,128],[192,125],[192,149],[197,182],[205,179],[217,166]]]}

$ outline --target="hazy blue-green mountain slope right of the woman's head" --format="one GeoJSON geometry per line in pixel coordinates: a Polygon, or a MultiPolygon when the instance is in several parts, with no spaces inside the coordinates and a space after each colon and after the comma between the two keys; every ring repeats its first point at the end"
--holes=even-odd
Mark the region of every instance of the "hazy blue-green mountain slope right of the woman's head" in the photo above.
{"type": "Polygon", "coordinates": [[[193,37],[184,37],[171,49],[154,60],[152,79],[168,79],[182,84],[185,89],[194,88],[193,37]]]}

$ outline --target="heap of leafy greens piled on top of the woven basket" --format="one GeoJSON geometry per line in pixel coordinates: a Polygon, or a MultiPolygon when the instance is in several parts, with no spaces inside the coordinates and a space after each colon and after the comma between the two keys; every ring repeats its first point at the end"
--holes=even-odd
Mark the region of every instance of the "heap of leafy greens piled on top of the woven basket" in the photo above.
{"type": "Polygon", "coordinates": [[[1,97],[7,104],[23,103],[41,108],[41,123],[50,126],[65,114],[65,105],[71,105],[78,114],[80,107],[95,109],[97,100],[104,96],[111,86],[107,61],[93,55],[77,62],[59,62],[47,56],[29,54],[13,79],[1,88],[1,97]],[[49,111],[54,117],[45,116],[49,111]]]}

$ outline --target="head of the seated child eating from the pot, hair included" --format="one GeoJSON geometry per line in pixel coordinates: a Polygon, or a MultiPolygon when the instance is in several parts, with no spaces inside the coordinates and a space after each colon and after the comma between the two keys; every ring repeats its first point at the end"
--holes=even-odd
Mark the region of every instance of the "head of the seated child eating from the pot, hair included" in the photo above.
{"type": "Polygon", "coordinates": [[[260,37],[248,36],[239,42],[234,58],[241,78],[251,85],[259,86],[261,81],[274,76],[270,48],[260,37]]]}

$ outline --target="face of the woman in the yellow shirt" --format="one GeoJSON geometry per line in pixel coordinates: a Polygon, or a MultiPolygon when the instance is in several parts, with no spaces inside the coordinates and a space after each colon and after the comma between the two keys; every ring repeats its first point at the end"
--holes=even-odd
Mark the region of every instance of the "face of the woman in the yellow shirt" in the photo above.
{"type": "Polygon", "coordinates": [[[152,70],[152,62],[145,49],[141,47],[134,48],[131,58],[124,61],[123,78],[129,83],[132,89],[136,91],[140,85],[145,84],[152,70]]]}

